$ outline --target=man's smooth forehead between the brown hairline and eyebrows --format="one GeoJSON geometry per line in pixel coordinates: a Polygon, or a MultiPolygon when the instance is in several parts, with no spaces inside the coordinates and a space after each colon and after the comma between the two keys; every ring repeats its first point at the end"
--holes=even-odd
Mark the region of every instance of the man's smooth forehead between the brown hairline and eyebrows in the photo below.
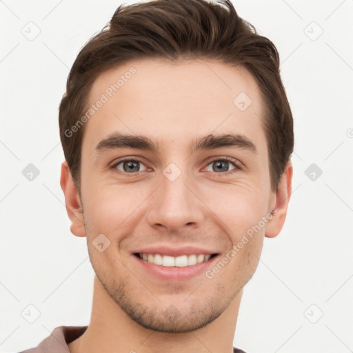
{"type": "Polygon", "coordinates": [[[131,61],[101,74],[89,101],[96,107],[85,126],[83,148],[94,148],[112,132],[165,145],[230,132],[265,143],[261,94],[252,74],[240,66],[203,59],[131,61]]]}

